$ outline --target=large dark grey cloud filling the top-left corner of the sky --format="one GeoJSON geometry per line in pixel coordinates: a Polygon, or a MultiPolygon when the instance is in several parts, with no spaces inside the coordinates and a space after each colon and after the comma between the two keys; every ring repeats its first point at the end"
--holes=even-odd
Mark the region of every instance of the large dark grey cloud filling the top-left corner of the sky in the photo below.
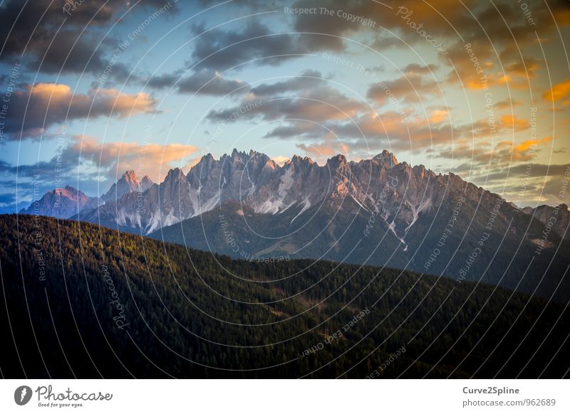
{"type": "MultiPolygon", "coordinates": [[[[167,3],[141,1],[129,13],[160,9],[167,3]]],[[[0,60],[24,60],[28,70],[43,73],[101,73],[114,48],[109,41],[102,41],[104,28],[127,10],[125,2],[84,1],[68,12],[63,10],[64,4],[61,0],[9,1],[0,7],[0,60]]],[[[168,10],[173,9],[172,3],[168,10]]],[[[110,76],[124,80],[128,73],[125,65],[117,63],[110,76]]]]}

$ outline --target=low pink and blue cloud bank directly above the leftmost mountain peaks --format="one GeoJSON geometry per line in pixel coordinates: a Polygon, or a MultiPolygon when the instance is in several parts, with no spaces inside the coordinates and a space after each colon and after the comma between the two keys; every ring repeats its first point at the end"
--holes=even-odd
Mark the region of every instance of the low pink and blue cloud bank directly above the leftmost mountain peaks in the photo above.
{"type": "Polygon", "coordinates": [[[12,196],[16,194],[16,182],[19,204],[33,199],[35,187],[36,191],[39,189],[39,196],[55,186],[66,184],[100,196],[117,176],[128,170],[134,170],[139,176],[148,175],[159,183],[169,169],[185,164],[196,152],[196,147],[187,144],[102,143],[94,137],[76,135],[71,137],[61,153],[48,161],[18,166],[0,161],[1,175],[5,180],[0,181],[0,186],[10,191],[0,195],[0,208],[2,211],[16,211],[16,197],[12,196]]]}

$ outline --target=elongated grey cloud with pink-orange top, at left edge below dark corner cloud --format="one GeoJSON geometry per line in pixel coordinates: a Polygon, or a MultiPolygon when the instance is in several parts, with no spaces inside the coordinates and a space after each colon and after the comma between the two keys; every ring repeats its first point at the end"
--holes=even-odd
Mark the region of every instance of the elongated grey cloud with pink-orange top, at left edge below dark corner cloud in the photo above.
{"type": "Polygon", "coordinates": [[[24,85],[9,103],[5,132],[11,138],[37,137],[54,124],[88,117],[129,117],[154,112],[155,100],[146,93],[128,94],[115,89],[91,89],[74,95],[71,87],[56,83],[24,85]]]}

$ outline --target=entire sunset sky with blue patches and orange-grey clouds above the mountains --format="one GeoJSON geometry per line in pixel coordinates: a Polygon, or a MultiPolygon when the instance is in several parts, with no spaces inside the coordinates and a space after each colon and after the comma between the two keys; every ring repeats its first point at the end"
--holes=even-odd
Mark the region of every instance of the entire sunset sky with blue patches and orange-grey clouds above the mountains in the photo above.
{"type": "Polygon", "coordinates": [[[0,0],[0,17],[0,213],[234,148],[388,149],[518,206],[569,203],[567,0],[0,0]]]}

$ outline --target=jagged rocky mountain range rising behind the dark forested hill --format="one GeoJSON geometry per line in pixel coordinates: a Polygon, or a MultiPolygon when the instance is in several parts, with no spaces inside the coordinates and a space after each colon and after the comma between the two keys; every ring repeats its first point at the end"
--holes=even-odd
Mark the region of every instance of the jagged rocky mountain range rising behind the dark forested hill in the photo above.
{"type": "MultiPolygon", "coordinates": [[[[337,155],[320,166],[301,156],[279,165],[234,149],[203,156],[188,174],[171,169],[160,184],[131,173],[66,215],[233,258],[326,259],[555,299],[570,294],[566,205],[518,208],[386,150],[362,161],[337,155]]],[[[53,201],[46,196],[42,206],[53,201]]]]}

